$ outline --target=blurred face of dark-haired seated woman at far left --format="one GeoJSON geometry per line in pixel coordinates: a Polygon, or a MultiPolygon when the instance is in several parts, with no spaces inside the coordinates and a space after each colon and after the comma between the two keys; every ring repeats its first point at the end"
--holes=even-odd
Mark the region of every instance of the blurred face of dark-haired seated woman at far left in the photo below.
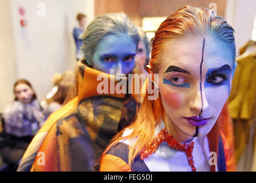
{"type": "Polygon", "coordinates": [[[18,98],[19,101],[23,103],[29,104],[31,102],[33,94],[34,90],[26,84],[19,83],[15,86],[15,96],[18,98]]]}

